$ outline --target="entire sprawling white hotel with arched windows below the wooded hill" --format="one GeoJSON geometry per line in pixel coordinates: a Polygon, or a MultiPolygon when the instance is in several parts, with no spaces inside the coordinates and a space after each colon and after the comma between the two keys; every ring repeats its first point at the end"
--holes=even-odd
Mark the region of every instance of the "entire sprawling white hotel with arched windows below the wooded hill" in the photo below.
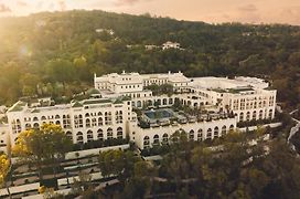
{"type": "Polygon", "coordinates": [[[235,129],[237,122],[275,117],[276,91],[260,78],[196,77],[181,72],[165,74],[111,73],[94,77],[98,97],[64,105],[18,102],[7,112],[11,145],[18,134],[43,123],[63,127],[73,143],[125,138],[129,136],[141,149],[167,143],[183,129],[190,139],[213,139],[235,129]],[[175,94],[153,96],[152,84],[171,84],[175,94]],[[215,113],[235,116],[141,128],[132,108],[170,107],[175,102],[215,113]],[[43,104],[43,105],[42,105],[43,104]]]}

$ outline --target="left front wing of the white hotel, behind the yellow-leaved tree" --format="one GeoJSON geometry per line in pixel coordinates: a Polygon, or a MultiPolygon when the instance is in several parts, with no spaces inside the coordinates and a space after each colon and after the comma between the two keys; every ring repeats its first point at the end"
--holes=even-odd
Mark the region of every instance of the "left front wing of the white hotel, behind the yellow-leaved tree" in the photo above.
{"type": "Polygon", "coordinates": [[[61,125],[73,143],[125,138],[127,122],[136,121],[131,102],[125,98],[94,98],[66,105],[30,107],[15,103],[7,113],[12,146],[22,130],[39,128],[43,123],[61,125]]]}

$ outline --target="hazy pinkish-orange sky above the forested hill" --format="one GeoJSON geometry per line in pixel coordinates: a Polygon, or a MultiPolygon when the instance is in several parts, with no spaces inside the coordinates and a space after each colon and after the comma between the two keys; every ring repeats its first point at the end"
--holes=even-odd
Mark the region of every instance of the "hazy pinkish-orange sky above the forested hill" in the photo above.
{"type": "Polygon", "coordinates": [[[300,24],[300,0],[0,0],[0,15],[100,9],[205,22],[300,24]]]}

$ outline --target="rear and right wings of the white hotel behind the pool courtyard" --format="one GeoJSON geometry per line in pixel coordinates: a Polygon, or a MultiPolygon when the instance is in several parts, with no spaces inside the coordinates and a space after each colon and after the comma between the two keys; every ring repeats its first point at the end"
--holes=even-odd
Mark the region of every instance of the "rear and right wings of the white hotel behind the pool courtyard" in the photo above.
{"type": "MultiPolygon", "coordinates": [[[[188,78],[181,72],[167,74],[122,73],[95,76],[95,87],[105,95],[109,90],[118,95],[130,96],[132,105],[144,107],[172,105],[175,100],[192,107],[206,106],[216,111],[232,111],[238,122],[251,119],[272,119],[276,107],[276,90],[268,90],[269,84],[256,77],[196,77],[188,78]],[[121,87],[115,85],[120,81],[121,87]],[[135,85],[139,85],[138,87],[135,85]],[[152,96],[146,86],[171,84],[184,93],[172,96],[152,96]],[[107,86],[103,86],[107,85],[107,86]],[[188,92],[186,92],[188,91],[188,92]],[[165,102],[165,103],[163,103],[165,102]],[[171,103],[169,103],[171,102],[171,103]]],[[[111,94],[111,93],[110,93],[111,94]]]]}

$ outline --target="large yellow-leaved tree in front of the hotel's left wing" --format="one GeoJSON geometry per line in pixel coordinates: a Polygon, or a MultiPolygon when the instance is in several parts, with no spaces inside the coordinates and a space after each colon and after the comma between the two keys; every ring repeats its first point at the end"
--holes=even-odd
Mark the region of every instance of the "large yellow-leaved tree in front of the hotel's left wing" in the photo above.
{"type": "Polygon", "coordinates": [[[32,128],[19,134],[12,151],[23,160],[35,164],[43,179],[43,166],[49,163],[56,166],[71,148],[72,140],[60,125],[43,124],[40,129],[32,128]]]}

